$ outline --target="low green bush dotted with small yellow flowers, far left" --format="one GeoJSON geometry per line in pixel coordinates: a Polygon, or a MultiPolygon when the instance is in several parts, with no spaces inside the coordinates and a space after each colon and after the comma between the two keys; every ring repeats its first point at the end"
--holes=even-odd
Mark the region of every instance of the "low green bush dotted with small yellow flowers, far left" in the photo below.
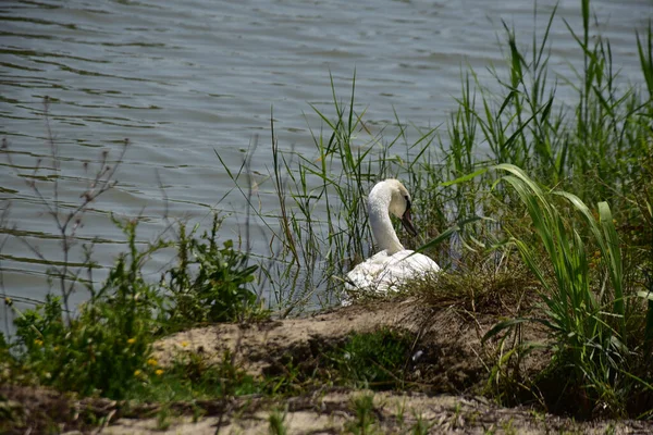
{"type": "Polygon", "coordinates": [[[148,361],[159,298],[145,283],[141,268],[165,244],[139,251],[137,221],[115,223],[127,236],[130,253],[119,257],[102,286],[89,286],[91,299],[79,307],[78,316],[65,321],[61,299],[48,295],[42,306],[14,321],[17,359],[46,385],[123,398],[139,382],[139,373],[153,371],[148,361]]]}

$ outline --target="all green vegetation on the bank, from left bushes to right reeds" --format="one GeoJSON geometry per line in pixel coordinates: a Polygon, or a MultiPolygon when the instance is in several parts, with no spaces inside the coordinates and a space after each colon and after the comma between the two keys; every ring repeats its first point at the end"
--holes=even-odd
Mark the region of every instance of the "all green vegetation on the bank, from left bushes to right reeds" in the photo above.
{"type": "MultiPolygon", "coordinates": [[[[267,309],[285,318],[337,304],[343,276],[373,251],[366,195],[393,176],[416,204],[421,240],[408,244],[445,269],[438,279],[407,285],[406,293],[470,322],[485,314],[495,320],[478,328],[486,382],[475,393],[581,418],[651,419],[653,32],[649,26],[633,35],[643,85],[623,83],[609,41],[592,27],[589,1],[581,9],[583,27],[568,28],[581,70],[562,78],[550,70],[555,12],[528,50],[506,26],[507,69],[492,70],[491,84],[466,71],[446,126],[421,130],[397,116],[395,136],[370,133],[365,110],[357,110],[355,77],[344,100],[332,83],[332,113],[316,109],[323,128],[312,134],[315,154],[282,152],[272,124],[273,166],[258,191],[279,199],[276,221],[256,206],[255,195],[264,194],[244,184],[247,162],[239,173],[225,167],[251,215],[269,229],[270,252],[257,259],[219,240],[218,216],[205,234],[176,223],[144,248],[135,243],[138,222],[115,220],[127,250],[104,283],[94,283],[90,249],[82,268],[72,266],[69,250],[75,222],[112,186],[113,171],[102,163],[70,217],[51,213],[64,248],[50,273],[57,290],[34,310],[12,307],[16,334],[1,341],[0,381],[132,402],[283,398],[326,380],[353,388],[378,383],[436,391],[409,378],[410,343],[418,338],[396,331],[354,334],[321,349],[326,358],[318,365],[287,361],[283,371],[262,377],[243,371],[229,352],[220,363],[195,355],[167,366],[152,357],[157,338],[190,326],[260,321],[270,316],[267,309]],[[575,100],[558,97],[562,80],[575,100]],[[148,282],[145,262],[168,248],[176,249],[176,263],[160,282],[148,282]],[[266,301],[257,296],[263,286],[266,301]],[[82,288],[88,302],[73,313],[70,295],[82,288]],[[533,327],[537,339],[525,338],[533,327]],[[535,355],[545,356],[537,371],[529,365],[535,355]],[[566,382],[554,383],[560,378],[566,382]]],[[[38,184],[28,186],[40,196],[38,184]]],[[[42,203],[50,211],[59,207],[42,203]]],[[[9,296],[5,303],[12,306],[9,296]]],[[[365,399],[356,406],[361,413],[369,408],[365,399]]]]}

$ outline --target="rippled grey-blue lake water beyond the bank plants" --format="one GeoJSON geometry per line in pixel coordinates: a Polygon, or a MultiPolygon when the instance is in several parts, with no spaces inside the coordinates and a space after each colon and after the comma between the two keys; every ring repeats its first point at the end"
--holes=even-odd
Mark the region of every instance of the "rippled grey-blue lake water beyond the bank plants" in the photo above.
{"type": "MultiPolygon", "coordinates": [[[[392,124],[393,110],[419,127],[441,125],[456,107],[461,69],[486,77],[486,66],[503,65],[502,20],[527,46],[553,4],[539,2],[534,21],[533,3],[523,0],[2,1],[0,136],[11,151],[11,164],[0,156],[2,209],[11,202],[0,252],[4,291],[42,299],[39,256],[61,259],[57,227],[25,184],[49,154],[45,96],[64,209],[84,191],[84,162],[97,162],[106,149],[115,158],[131,140],[120,184],[93,204],[78,232],[99,237],[95,259],[107,266],[124,250],[109,212],[143,215],[140,238],[148,240],[165,226],[163,215],[206,225],[218,208],[233,212],[222,235],[235,237],[244,200],[229,195],[218,203],[233,184],[215,152],[237,170],[257,141],[252,169],[267,173],[272,108],[280,147],[310,156],[308,126],[320,126],[310,104],[332,113],[330,74],[346,98],[356,71],[368,125],[392,124]]],[[[615,66],[625,80],[641,82],[634,30],[645,28],[653,2],[601,0],[592,8],[615,66]]],[[[551,69],[569,75],[580,54],[563,18],[581,32],[580,1],[560,2],[551,35],[551,69]]],[[[50,163],[41,165],[38,186],[50,197],[50,163]]]]}

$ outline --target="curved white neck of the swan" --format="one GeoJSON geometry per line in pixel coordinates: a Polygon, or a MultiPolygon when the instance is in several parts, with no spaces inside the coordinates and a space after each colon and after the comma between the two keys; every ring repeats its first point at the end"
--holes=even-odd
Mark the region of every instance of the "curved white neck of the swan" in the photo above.
{"type": "Polygon", "coordinates": [[[399,241],[390,220],[391,200],[392,192],[389,189],[384,189],[382,184],[372,189],[368,199],[368,214],[370,216],[372,235],[374,236],[374,240],[377,240],[379,250],[387,251],[389,256],[404,250],[404,246],[399,241]]]}

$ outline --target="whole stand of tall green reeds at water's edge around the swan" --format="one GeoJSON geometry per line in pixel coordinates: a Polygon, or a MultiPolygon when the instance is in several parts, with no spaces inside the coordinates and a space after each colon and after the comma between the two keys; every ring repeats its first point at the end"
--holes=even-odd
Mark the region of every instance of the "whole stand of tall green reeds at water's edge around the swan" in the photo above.
{"type": "MultiPolygon", "coordinates": [[[[356,74],[347,98],[338,98],[331,77],[331,109],[312,107],[321,121],[319,130],[309,125],[312,154],[282,151],[272,123],[268,177],[273,187],[268,191],[274,192],[279,210],[257,210],[270,232],[271,250],[261,273],[272,304],[291,312],[337,300],[342,276],[373,252],[366,195],[387,176],[399,177],[414,196],[422,237],[405,240],[407,246],[458,227],[446,246],[430,245],[430,254],[444,265],[455,265],[468,240],[482,245],[481,237],[501,239],[502,222],[515,219],[505,204],[518,203],[519,196],[504,185],[492,190],[496,175],[482,171],[492,164],[519,166],[537,182],[572,191],[586,203],[606,201],[617,219],[633,213],[641,219],[633,206],[641,183],[633,181],[643,179],[638,161],[653,147],[651,28],[633,39],[646,85],[641,92],[616,71],[609,41],[601,36],[599,20],[591,20],[588,0],[581,2],[581,30],[567,25],[581,67],[569,77],[556,75],[550,65],[556,13],[554,9],[547,16],[541,34],[533,32],[528,49],[504,23],[506,67],[490,66],[490,82],[470,67],[465,71],[446,126],[414,127],[395,114],[392,124],[372,132],[355,99],[356,74]],[[564,95],[560,85],[566,86],[564,95]],[[451,183],[471,179],[470,174],[477,175],[475,183],[451,183]],[[269,214],[278,214],[279,221],[269,214]],[[457,225],[477,215],[493,220],[457,225]]],[[[534,22],[539,18],[535,11],[534,22]]],[[[242,184],[239,174],[232,175],[242,184]]]]}

